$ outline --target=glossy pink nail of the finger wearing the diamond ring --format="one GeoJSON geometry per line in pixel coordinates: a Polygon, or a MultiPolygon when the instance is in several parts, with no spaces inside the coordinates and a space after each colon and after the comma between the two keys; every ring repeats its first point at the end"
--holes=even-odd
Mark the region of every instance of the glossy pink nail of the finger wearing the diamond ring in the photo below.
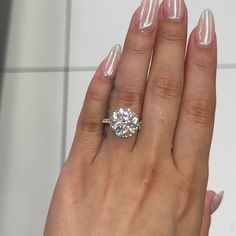
{"type": "Polygon", "coordinates": [[[139,30],[152,31],[155,28],[158,6],[158,0],[142,0],[137,16],[137,28],[139,30]]]}

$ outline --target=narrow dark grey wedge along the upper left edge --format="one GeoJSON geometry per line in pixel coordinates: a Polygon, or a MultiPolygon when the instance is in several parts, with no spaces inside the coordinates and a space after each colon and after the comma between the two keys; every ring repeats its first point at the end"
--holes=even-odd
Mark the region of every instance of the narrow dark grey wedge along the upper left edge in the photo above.
{"type": "Polygon", "coordinates": [[[3,89],[3,72],[6,58],[6,48],[8,43],[9,21],[11,17],[12,0],[0,1],[0,112],[3,89]]]}

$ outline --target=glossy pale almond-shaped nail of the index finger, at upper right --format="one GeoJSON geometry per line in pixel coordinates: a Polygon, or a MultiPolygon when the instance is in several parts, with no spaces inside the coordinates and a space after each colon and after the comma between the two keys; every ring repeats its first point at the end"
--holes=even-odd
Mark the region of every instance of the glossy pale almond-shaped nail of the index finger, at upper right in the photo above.
{"type": "Polygon", "coordinates": [[[197,43],[200,47],[210,47],[214,41],[215,23],[211,10],[202,12],[197,26],[197,43]]]}

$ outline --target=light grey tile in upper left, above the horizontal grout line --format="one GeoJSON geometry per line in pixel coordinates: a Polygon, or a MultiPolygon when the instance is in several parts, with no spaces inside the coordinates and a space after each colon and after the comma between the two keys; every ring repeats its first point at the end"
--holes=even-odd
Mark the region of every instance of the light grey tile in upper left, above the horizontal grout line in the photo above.
{"type": "Polygon", "coordinates": [[[6,67],[64,66],[66,0],[12,0],[6,67]]]}

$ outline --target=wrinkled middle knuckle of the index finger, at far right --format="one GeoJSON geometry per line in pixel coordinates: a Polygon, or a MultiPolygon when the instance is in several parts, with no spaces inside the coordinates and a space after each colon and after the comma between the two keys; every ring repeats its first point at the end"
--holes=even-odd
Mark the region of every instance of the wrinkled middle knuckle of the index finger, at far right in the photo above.
{"type": "Polygon", "coordinates": [[[209,124],[214,119],[214,105],[206,99],[191,99],[186,102],[188,119],[199,124],[209,124]]]}

